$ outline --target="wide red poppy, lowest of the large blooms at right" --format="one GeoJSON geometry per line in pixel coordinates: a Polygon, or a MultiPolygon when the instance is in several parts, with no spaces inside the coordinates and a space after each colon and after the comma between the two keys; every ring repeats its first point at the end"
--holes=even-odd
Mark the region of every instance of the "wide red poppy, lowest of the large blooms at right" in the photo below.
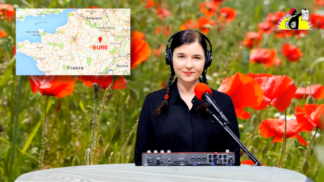
{"type": "MultiPolygon", "coordinates": [[[[285,138],[297,137],[301,145],[307,145],[307,142],[298,134],[302,131],[302,128],[298,124],[296,119],[287,120],[287,129],[285,138]]],[[[275,141],[282,142],[282,137],[285,132],[285,120],[284,119],[266,119],[261,122],[259,126],[259,133],[262,137],[274,137],[272,144],[275,141]]]]}

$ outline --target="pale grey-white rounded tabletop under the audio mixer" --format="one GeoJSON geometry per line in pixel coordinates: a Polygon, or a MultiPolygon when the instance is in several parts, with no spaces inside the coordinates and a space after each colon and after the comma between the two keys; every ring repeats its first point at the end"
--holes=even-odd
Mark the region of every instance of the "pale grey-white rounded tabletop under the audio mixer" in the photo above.
{"type": "Polygon", "coordinates": [[[313,182],[296,171],[267,166],[135,166],[102,164],[61,167],[21,175],[15,182],[313,182]]]}

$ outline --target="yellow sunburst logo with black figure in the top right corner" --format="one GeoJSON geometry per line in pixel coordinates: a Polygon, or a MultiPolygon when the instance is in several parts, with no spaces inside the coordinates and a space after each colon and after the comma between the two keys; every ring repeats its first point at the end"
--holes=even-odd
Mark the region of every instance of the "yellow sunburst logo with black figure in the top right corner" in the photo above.
{"type": "Polygon", "coordinates": [[[309,9],[300,9],[300,13],[297,14],[296,9],[289,11],[290,15],[287,14],[280,19],[277,25],[277,30],[312,30],[310,28],[309,21],[309,9]]]}

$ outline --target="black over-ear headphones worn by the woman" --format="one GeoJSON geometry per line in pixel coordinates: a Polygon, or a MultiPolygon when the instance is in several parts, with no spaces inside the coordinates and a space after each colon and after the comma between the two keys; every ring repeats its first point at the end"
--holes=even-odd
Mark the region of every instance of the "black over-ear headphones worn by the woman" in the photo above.
{"type": "MultiPolygon", "coordinates": [[[[187,30],[193,30],[193,29],[187,29],[187,30]]],[[[185,30],[181,30],[181,31],[185,31],[185,30]]],[[[171,68],[173,68],[173,62],[172,62],[172,52],[171,52],[171,49],[169,48],[169,43],[171,41],[171,39],[174,37],[175,34],[181,32],[181,31],[178,31],[176,33],[174,33],[171,38],[169,39],[168,41],[168,44],[167,44],[167,48],[165,49],[165,62],[167,63],[167,65],[170,65],[171,68]]],[[[201,32],[197,31],[197,30],[194,30],[195,32],[198,32],[202,35],[202,37],[209,43],[210,45],[210,50],[207,50],[207,54],[206,54],[206,58],[205,58],[205,65],[203,67],[203,70],[207,69],[208,67],[210,67],[211,65],[211,62],[213,60],[213,54],[212,54],[212,45],[210,43],[210,41],[208,40],[208,38],[202,34],[201,32]]],[[[207,71],[207,70],[206,70],[207,71]]]]}

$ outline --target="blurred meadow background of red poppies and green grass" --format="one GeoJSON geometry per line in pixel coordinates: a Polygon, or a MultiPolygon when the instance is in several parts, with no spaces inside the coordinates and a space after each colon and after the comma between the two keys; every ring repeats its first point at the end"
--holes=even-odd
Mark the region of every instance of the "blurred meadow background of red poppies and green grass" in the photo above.
{"type": "Polygon", "coordinates": [[[251,153],[323,182],[324,0],[0,0],[0,182],[134,162],[144,99],[166,87],[167,41],[184,29],[211,41],[208,85],[231,97],[251,153]],[[131,75],[16,76],[16,8],[130,8],[131,75]],[[312,30],[276,30],[292,8],[312,30]]]}

